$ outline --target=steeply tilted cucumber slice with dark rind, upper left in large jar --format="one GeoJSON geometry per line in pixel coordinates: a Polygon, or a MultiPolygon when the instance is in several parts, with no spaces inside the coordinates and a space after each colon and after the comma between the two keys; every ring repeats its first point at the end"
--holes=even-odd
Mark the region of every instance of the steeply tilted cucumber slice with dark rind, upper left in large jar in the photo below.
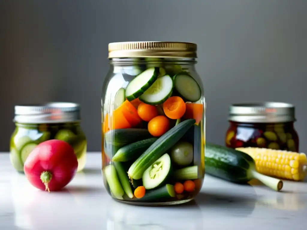
{"type": "Polygon", "coordinates": [[[125,96],[132,101],[141,96],[157,80],[159,67],[152,67],[136,76],[126,87],[125,96]]]}

